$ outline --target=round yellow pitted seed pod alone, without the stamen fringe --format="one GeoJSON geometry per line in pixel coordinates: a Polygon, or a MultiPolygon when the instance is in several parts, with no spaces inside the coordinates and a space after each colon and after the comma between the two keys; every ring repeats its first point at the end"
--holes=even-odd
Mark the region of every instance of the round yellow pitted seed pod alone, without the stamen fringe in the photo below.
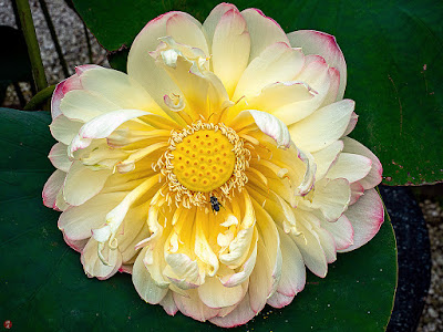
{"type": "Polygon", "coordinates": [[[233,149],[234,145],[220,131],[195,132],[173,152],[173,172],[186,188],[209,193],[233,175],[236,163],[233,149]]]}

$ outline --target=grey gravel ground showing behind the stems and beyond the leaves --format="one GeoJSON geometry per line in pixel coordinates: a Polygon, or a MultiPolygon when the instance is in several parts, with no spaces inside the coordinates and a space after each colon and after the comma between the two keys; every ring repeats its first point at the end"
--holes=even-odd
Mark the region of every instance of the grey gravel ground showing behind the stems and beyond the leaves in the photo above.
{"type": "MultiPolygon", "coordinates": [[[[55,48],[50,37],[48,25],[40,9],[39,1],[30,1],[39,39],[43,65],[50,84],[63,80],[62,68],[59,63],[55,48]]],[[[89,63],[86,38],[80,18],[65,6],[62,0],[47,0],[47,4],[55,25],[55,30],[72,74],[75,65],[89,63]]],[[[0,0],[0,24],[17,28],[10,0],[0,0]]],[[[106,52],[90,34],[93,63],[109,66],[106,52]]],[[[21,83],[29,98],[29,84],[21,83]]],[[[18,105],[13,89],[9,89],[4,106],[18,105]]],[[[432,280],[426,305],[418,332],[443,331],[443,210],[441,201],[425,199],[420,203],[431,239],[432,280]]]]}

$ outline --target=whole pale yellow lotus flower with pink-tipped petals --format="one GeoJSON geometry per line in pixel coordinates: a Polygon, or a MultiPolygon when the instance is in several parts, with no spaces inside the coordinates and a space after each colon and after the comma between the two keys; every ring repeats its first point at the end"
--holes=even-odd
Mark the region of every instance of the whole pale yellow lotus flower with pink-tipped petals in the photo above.
{"type": "Polygon", "coordinates": [[[346,79],[329,34],[227,3],[203,24],[165,13],[127,74],[82,65],[56,86],[44,204],[89,277],[130,272],[168,314],[244,324],[383,222],[346,79]]]}

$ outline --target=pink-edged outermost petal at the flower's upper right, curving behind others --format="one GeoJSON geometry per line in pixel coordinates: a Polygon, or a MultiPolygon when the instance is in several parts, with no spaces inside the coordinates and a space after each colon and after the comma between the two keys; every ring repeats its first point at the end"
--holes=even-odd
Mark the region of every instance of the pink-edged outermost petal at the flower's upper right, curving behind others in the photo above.
{"type": "Polygon", "coordinates": [[[299,30],[288,33],[288,39],[292,48],[302,48],[305,54],[321,55],[326,59],[329,66],[336,68],[339,71],[340,86],[336,101],[342,100],[347,83],[347,64],[336,38],[320,31],[299,30]]]}

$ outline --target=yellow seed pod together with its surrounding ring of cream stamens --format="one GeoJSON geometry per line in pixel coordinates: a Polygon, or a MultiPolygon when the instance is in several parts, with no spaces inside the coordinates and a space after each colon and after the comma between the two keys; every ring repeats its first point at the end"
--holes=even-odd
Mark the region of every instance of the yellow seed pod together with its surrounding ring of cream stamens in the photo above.
{"type": "Polygon", "coordinates": [[[248,180],[249,159],[249,151],[233,128],[197,121],[171,132],[169,147],[153,168],[166,177],[167,204],[190,208],[209,204],[213,196],[231,199],[234,190],[240,191],[248,180]]]}

